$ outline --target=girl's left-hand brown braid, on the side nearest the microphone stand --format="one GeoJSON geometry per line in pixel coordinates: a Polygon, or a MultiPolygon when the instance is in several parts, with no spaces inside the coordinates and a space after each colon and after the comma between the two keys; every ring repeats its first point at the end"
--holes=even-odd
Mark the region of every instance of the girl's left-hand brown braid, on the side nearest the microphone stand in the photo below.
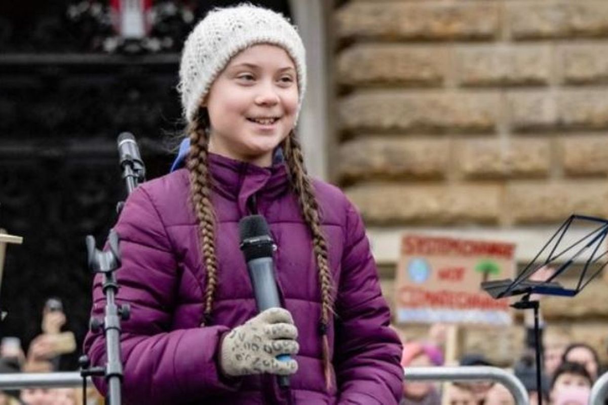
{"type": "Polygon", "coordinates": [[[213,309],[213,295],[218,284],[218,265],[215,257],[215,214],[211,203],[211,182],[207,166],[206,111],[199,110],[197,117],[188,129],[190,137],[190,154],[188,171],[190,172],[190,198],[198,220],[198,231],[201,238],[201,257],[207,270],[205,288],[205,312],[202,324],[210,324],[213,309]]]}

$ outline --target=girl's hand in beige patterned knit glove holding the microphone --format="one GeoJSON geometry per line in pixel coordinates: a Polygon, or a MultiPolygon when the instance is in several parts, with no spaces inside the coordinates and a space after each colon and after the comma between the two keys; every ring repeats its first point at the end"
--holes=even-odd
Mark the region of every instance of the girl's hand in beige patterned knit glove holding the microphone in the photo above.
{"type": "Polygon", "coordinates": [[[277,356],[295,355],[300,350],[297,336],[289,311],[269,308],[228,332],[220,347],[219,367],[227,376],[293,374],[297,362],[277,360],[277,356]]]}

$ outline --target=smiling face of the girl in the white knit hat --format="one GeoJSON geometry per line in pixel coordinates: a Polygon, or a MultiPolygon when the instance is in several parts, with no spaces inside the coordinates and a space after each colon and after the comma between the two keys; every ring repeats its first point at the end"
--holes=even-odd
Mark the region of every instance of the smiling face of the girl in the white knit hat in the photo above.
{"type": "Polygon", "coordinates": [[[274,149],[295,125],[295,65],[281,47],[259,44],[238,53],[213,82],[203,106],[209,111],[209,151],[271,166],[274,149]]]}

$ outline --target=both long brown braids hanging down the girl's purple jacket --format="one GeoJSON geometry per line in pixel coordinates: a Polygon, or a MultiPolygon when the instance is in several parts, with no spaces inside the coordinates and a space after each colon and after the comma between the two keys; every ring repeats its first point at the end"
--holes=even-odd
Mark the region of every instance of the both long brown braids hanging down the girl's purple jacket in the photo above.
{"type": "MultiPolygon", "coordinates": [[[[208,166],[209,116],[207,110],[199,108],[195,120],[188,128],[190,137],[190,154],[188,171],[190,172],[190,198],[195,209],[198,232],[201,239],[201,257],[207,270],[205,289],[204,324],[212,321],[213,296],[218,284],[218,266],[215,256],[215,215],[211,202],[211,180],[208,166]]],[[[283,151],[289,169],[289,180],[294,190],[302,215],[313,236],[313,250],[319,268],[321,290],[321,319],[319,330],[322,335],[323,372],[327,389],[331,387],[330,347],[327,328],[333,314],[332,279],[328,259],[328,248],[321,230],[319,204],[314,194],[313,183],[306,172],[302,148],[295,135],[289,132],[283,141],[283,151]]]]}

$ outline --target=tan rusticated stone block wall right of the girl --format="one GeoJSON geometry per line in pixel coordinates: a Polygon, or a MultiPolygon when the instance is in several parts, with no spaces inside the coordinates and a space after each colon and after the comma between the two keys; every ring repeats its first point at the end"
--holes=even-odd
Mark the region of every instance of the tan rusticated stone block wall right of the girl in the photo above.
{"type": "MultiPolygon", "coordinates": [[[[333,175],[368,226],[499,234],[608,217],[608,1],[347,0],[330,30],[333,175]]],[[[379,260],[389,299],[391,257],[379,260]]],[[[604,360],[606,280],[542,304],[550,333],[604,360]]],[[[506,363],[522,330],[468,328],[463,340],[506,363]]]]}

